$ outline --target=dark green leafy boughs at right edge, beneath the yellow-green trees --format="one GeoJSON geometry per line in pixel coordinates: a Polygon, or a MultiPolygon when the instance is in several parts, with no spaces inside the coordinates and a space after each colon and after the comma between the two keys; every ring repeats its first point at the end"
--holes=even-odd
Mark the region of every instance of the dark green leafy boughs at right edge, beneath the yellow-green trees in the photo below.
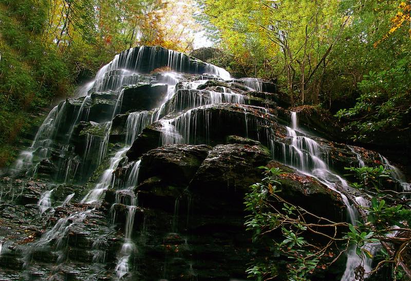
{"type": "Polygon", "coordinates": [[[341,109],[337,117],[350,121],[345,130],[353,130],[359,137],[378,132],[409,129],[411,104],[410,62],[400,60],[389,70],[369,71],[358,83],[361,91],[357,103],[341,109]]]}

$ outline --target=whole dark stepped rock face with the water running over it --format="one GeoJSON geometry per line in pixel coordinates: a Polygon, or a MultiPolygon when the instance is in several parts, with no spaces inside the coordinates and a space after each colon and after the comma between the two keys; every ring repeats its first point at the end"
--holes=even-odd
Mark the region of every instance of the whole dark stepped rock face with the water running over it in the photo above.
{"type": "Polygon", "coordinates": [[[258,166],[283,170],[289,202],[345,221],[344,167],[389,165],[339,143],[322,110],[289,111],[275,81],[163,48],[120,53],[79,97],[50,111],[0,178],[2,280],[246,279],[271,255],[244,226],[258,166]]]}

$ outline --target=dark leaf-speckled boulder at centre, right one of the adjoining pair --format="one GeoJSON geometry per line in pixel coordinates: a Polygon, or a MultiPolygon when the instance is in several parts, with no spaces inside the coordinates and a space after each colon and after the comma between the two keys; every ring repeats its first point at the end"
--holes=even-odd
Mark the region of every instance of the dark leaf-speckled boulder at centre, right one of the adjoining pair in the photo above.
{"type": "Polygon", "coordinates": [[[224,209],[225,212],[242,213],[246,191],[260,180],[261,172],[257,167],[266,165],[269,160],[269,153],[257,145],[215,146],[189,185],[189,191],[196,198],[195,212],[224,209]]]}

